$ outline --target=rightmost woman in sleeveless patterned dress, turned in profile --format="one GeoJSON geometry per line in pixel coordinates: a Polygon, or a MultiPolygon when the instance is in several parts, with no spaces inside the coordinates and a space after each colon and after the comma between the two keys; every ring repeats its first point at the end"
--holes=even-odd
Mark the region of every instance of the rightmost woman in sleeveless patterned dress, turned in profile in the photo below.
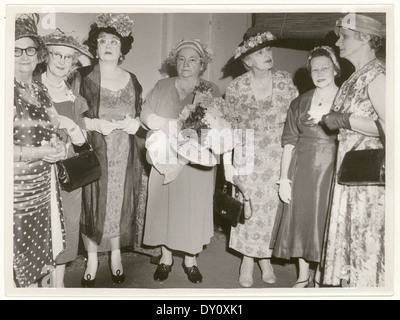
{"type": "MultiPolygon", "coordinates": [[[[376,58],[381,24],[353,14],[338,21],[336,45],[355,72],[343,83],[333,111],[322,120],[340,129],[338,162],[364,136],[357,150],[382,148],[375,121],[385,121],[385,65],[376,58]],[[350,18],[350,20],[349,20],[350,18]],[[354,24],[344,22],[354,21],[354,24]]],[[[334,186],[324,263],[324,284],[381,287],[385,280],[385,188],[334,186]]]]}

